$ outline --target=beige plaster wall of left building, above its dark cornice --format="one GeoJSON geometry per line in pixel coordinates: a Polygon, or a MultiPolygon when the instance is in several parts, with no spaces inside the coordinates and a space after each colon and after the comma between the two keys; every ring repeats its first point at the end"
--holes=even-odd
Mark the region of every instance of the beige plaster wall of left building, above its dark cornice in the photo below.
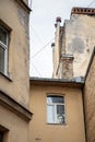
{"type": "Polygon", "coordinates": [[[28,13],[15,0],[0,1],[0,20],[12,28],[9,43],[9,63],[7,80],[0,74],[0,90],[23,106],[28,107],[28,13]]]}

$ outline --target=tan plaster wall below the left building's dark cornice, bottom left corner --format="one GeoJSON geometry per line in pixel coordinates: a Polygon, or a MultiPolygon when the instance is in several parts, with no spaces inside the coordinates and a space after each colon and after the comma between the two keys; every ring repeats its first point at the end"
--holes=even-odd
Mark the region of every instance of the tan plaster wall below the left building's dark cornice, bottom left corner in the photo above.
{"type": "Polygon", "coordinates": [[[27,121],[1,105],[0,125],[8,129],[3,142],[28,142],[27,121]]]}

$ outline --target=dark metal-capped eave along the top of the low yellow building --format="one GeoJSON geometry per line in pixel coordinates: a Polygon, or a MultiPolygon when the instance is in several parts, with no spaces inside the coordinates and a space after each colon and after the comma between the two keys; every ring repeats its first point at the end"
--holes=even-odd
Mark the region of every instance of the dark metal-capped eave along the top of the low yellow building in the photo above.
{"type": "Polygon", "coordinates": [[[70,86],[70,87],[83,87],[84,79],[81,76],[74,79],[48,79],[48,78],[31,78],[31,85],[47,85],[47,86],[70,86]]]}

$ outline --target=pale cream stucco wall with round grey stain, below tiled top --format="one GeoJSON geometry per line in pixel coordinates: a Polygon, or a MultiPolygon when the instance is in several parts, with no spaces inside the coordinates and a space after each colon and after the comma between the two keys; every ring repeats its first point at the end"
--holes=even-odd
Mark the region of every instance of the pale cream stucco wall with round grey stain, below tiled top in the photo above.
{"type": "Polygon", "coordinates": [[[74,56],[74,76],[85,75],[88,60],[95,46],[94,29],[94,15],[72,14],[70,21],[66,21],[66,47],[62,48],[66,48],[67,54],[74,56]]]}

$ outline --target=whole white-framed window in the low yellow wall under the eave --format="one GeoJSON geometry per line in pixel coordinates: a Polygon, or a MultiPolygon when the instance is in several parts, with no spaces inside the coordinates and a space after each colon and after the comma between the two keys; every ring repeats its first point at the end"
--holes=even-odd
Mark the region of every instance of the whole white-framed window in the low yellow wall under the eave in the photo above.
{"type": "Polygon", "coordinates": [[[64,123],[64,96],[48,95],[47,96],[47,122],[64,123]]]}

